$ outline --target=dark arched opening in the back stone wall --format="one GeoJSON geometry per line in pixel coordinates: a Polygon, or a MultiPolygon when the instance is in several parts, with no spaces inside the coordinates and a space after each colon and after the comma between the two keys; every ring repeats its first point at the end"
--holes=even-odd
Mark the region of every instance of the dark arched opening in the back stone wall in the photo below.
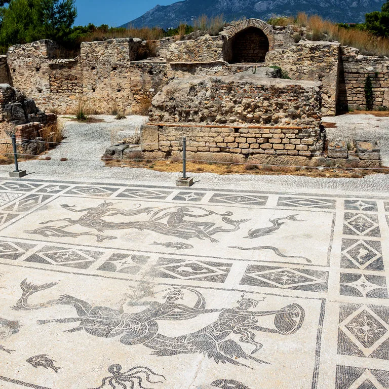
{"type": "Polygon", "coordinates": [[[247,27],[231,40],[232,62],[264,62],[269,51],[266,34],[257,27],[247,27]]]}

